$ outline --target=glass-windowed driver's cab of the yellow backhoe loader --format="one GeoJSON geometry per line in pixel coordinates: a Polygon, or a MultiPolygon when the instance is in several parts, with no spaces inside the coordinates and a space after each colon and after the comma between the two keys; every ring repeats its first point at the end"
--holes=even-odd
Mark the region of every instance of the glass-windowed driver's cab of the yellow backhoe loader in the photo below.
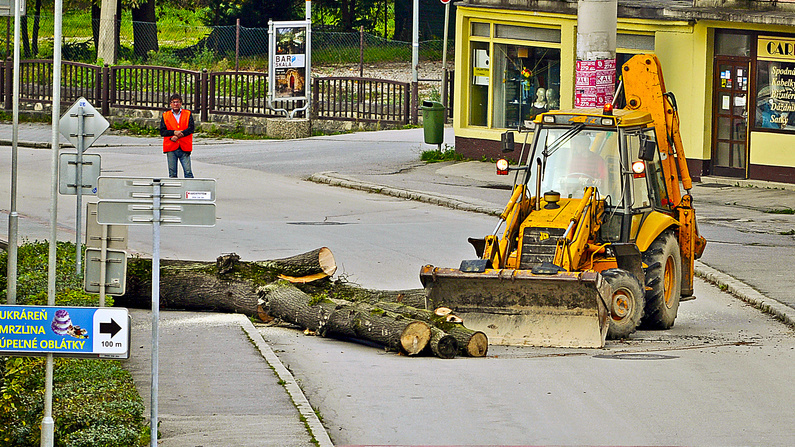
{"type": "Polygon", "coordinates": [[[537,122],[534,139],[535,157],[542,162],[542,194],[555,191],[561,198],[578,199],[586,187],[596,187],[604,201],[600,242],[634,242],[653,210],[670,213],[649,123],[624,127],[537,122]]]}

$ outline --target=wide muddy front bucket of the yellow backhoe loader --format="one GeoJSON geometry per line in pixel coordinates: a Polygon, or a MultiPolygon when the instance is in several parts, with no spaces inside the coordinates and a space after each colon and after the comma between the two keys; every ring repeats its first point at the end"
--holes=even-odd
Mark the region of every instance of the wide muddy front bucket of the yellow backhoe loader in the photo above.
{"type": "Polygon", "coordinates": [[[593,271],[537,275],[528,270],[468,273],[426,265],[420,281],[428,307],[449,307],[489,343],[601,348],[607,336],[610,285],[593,271]]]}

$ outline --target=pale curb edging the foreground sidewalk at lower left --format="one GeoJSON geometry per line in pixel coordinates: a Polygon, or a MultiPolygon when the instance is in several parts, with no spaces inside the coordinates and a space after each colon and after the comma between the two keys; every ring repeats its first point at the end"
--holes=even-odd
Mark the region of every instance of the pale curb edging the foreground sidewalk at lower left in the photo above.
{"type": "Polygon", "coordinates": [[[298,412],[306,420],[306,424],[310,432],[309,434],[312,436],[312,439],[317,441],[317,445],[319,447],[334,447],[334,443],[331,442],[331,438],[329,438],[326,428],[323,427],[323,423],[320,422],[320,419],[317,417],[312,405],[310,405],[309,400],[304,395],[304,392],[301,391],[301,387],[298,385],[295,377],[293,377],[292,373],[290,373],[284,364],[282,364],[282,362],[279,360],[279,357],[277,357],[273,352],[273,349],[271,349],[270,345],[268,345],[268,343],[265,342],[265,339],[262,338],[262,334],[260,334],[257,328],[254,327],[254,324],[251,323],[251,321],[245,315],[236,315],[240,315],[240,327],[248,335],[257,349],[259,349],[260,354],[262,354],[262,357],[271,366],[273,371],[279,377],[279,380],[284,382],[284,388],[287,390],[287,394],[289,394],[290,398],[293,400],[295,408],[298,409],[298,412]]]}

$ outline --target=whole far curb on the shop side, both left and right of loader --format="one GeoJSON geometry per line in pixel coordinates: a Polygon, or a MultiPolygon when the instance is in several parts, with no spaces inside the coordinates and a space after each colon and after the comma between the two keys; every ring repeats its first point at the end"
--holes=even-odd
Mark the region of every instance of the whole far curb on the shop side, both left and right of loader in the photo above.
{"type": "MultiPolygon", "coordinates": [[[[342,188],[357,189],[374,194],[384,194],[410,200],[417,200],[434,205],[447,206],[449,208],[462,211],[471,211],[493,216],[499,216],[502,212],[502,210],[480,207],[443,196],[417,191],[400,190],[375,183],[362,182],[361,180],[357,180],[352,177],[339,175],[336,172],[319,172],[312,174],[307,180],[315,183],[325,183],[331,186],[339,186],[342,188]]],[[[740,300],[751,304],[762,312],[773,315],[775,318],[781,320],[788,326],[795,327],[795,309],[762,295],[754,288],[743,283],[737,278],[720,272],[701,261],[695,262],[694,273],[699,278],[702,278],[703,280],[718,286],[720,289],[731,293],[740,300]]]]}

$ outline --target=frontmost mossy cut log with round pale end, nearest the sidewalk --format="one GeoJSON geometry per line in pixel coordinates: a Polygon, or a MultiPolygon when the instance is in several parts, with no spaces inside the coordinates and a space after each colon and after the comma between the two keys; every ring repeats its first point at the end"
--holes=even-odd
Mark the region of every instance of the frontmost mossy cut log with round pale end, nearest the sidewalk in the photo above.
{"type": "Polygon", "coordinates": [[[366,303],[313,300],[286,281],[260,287],[260,305],[268,315],[316,332],[369,340],[408,355],[419,354],[431,338],[430,326],[366,303]]]}

